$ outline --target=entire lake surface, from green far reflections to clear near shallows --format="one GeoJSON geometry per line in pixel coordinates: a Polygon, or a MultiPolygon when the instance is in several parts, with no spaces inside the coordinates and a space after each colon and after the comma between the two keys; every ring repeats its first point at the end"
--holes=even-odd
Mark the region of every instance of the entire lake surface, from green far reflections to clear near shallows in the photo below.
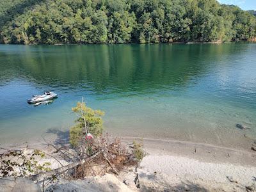
{"type": "Polygon", "coordinates": [[[82,96],[113,135],[244,147],[256,139],[256,44],[0,45],[1,144],[67,134],[82,96]],[[58,99],[27,103],[45,90],[58,99]]]}

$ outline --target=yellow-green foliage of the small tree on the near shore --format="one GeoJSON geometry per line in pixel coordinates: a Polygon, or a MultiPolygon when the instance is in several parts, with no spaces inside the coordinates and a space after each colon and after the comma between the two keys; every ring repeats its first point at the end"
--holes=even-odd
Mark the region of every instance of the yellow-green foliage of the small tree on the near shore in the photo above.
{"type": "Polygon", "coordinates": [[[85,136],[85,124],[88,133],[93,136],[100,136],[103,131],[103,121],[101,116],[104,112],[100,110],[93,110],[88,108],[84,102],[77,102],[77,106],[72,108],[72,111],[78,116],[76,119],[76,125],[70,129],[70,144],[77,146],[79,141],[85,136]]]}

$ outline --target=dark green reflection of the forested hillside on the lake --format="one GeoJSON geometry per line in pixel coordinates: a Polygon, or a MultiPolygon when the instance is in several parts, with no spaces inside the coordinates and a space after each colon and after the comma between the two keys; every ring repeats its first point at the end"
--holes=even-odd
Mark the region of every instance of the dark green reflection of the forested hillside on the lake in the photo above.
{"type": "Polygon", "coordinates": [[[33,83],[68,89],[80,88],[86,83],[96,92],[141,92],[148,84],[152,84],[152,88],[186,84],[189,77],[198,76],[211,67],[204,65],[205,60],[218,60],[223,49],[230,51],[232,46],[9,46],[1,47],[6,51],[1,52],[4,59],[1,68],[3,75],[10,73],[7,81],[19,75],[33,83]]]}

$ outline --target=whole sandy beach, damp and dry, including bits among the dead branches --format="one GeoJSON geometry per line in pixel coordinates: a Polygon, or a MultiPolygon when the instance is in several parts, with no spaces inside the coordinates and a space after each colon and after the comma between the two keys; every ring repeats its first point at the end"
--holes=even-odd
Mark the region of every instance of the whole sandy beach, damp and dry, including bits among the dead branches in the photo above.
{"type": "MultiPolygon", "coordinates": [[[[114,137],[110,139],[112,138],[114,137]]],[[[124,145],[131,145],[133,140],[142,141],[147,156],[140,162],[137,171],[126,170],[119,176],[109,177],[110,182],[117,178],[120,184],[126,180],[131,191],[246,191],[246,187],[255,184],[256,152],[253,150],[179,140],[120,137],[124,145]],[[140,189],[134,184],[136,174],[140,180],[140,189]]],[[[28,145],[47,150],[44,142],[28,145]]],[[[54,159],[51,161],[54,163],[54,159]]],[[[100,176],[99,180],[104,180],[105,177],[100,176]]],[[[69,187],[70,182],[76,183],[63,182],[69,187]]],[[[80,185],[82,183],[83,180],[80,185]]]]}

